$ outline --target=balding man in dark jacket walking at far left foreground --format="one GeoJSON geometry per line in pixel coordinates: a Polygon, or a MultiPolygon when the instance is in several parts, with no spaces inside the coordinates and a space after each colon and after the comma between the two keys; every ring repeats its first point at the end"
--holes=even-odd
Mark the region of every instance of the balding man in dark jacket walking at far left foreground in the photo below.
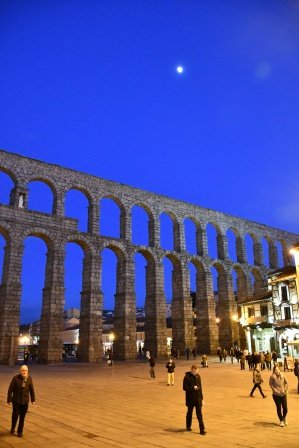
{"type": "Polygon", "coordinates": [[[35,394],[31,376],[28,375],[28,367],[26,365],[21,366],[19,375],[16,375],[11,380],[8,393],[7,403],[12,402],[12,418],[11,418],[11,430],[10,433],[14,434],[17,421],[18,425],[18,437],[23,436],[24,420],[28,410],[29,394],[31,403],[35,402],[35,394]]]}

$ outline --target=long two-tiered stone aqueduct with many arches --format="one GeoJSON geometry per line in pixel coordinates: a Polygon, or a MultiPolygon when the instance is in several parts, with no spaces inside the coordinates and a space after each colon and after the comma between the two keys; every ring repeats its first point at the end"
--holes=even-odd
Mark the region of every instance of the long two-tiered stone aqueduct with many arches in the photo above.
{"type": "Polygon", "coordinates": [[[0,205],[0,233],[5,239],[2,281],[0,286],[0,363],[17,357],[21,271],[24,240],[42,238],[47,245],[46,273],[43,289],[39,358],[41,362],[61,361],[64,311],[64,258],[68,242],[79,244],[84,252],[81,292],[79,359],[87,362],[102,358],[101,252],[110,248],[117,256],[115,295],[115,358],[136,357],[136,304],[134,289],[134,256],[142,253],[146,266],[145,344],[156,357],[166,356],[166,303],[163,259],[173,264],[172,332],[173,344],[180,350],[194,345],[192,301],[187,264],[196,267],[196,344],[199,352],[213,353],[218,345],[229,347],[240,340],[238,324],[232,319],[236,301],[231,272],[238,274],[238,299],[244,300],[264,284],[267,267],[263,265],[261,238],[269,244],[270,268],[278,267],[278,241],[283,248],[284,263],[289,264],[289,247],[298,235],[245,219],[201,208],[182,201],[103,180],[58,165],[47,164],[17,154],[0,151],[0,171],[14,184],[9,205],[0,205]],[[28,210],[28,184],[46,183],[53,193],[52,214],[28,210]],[[71,190],[86,195],[88,229],[78,230],[78,221],[67,218],[64,198],[71,190]],[[120,238],[99,233],[100,200],[113,199],[120,207],[120,238]],[[148,214],[148,246],[132,244],[131,210],[138,205],[148,214]],[[173,221],[174,250],[160,247],[160,221],[167,213],[173,221]],[[197,254],[186,251],[184,220],[196,225],[197,254]],[[218,259],[208,255],[206,226],[217,229],[218,259]],[[236,235],[237,261],[228,258],[226,231],[236,235]],[[253,239],[254,265],[246,260],[245,235],[253,239]],[[211,267],[218,271],[218,314],[215,321],[215,299],[211,267]],[[250,275],[255,278],[254,289],[250,275]]]}

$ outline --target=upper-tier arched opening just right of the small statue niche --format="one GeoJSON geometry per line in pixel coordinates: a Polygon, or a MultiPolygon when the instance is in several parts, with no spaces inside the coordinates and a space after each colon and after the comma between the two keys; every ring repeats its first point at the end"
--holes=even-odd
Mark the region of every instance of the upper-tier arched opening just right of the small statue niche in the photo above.
{"type": "Polygon", "coordinates": [[[51,214],[53,191],[45,182],[34,180],[28,183],[28,209],[51,214]]]}

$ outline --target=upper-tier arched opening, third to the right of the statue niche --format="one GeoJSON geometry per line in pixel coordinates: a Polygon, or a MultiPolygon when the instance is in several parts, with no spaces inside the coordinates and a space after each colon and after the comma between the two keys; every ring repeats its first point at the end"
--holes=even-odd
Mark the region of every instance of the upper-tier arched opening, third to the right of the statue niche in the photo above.
{"type": "Polygon", "coordinates": [[[112,238],[120,238],[120,215],[118,203],[111,198],[100,201],[100,234],[112,238]]]}

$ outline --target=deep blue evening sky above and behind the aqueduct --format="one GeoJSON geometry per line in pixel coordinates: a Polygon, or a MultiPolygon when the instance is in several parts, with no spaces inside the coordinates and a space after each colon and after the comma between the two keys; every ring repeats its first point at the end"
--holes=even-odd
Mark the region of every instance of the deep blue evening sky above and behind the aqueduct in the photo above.
{"type": "Polygon", "coordinates": [[[298,0],[1,0],[0,62],[2,149],[299,232],[298,0]]]}

